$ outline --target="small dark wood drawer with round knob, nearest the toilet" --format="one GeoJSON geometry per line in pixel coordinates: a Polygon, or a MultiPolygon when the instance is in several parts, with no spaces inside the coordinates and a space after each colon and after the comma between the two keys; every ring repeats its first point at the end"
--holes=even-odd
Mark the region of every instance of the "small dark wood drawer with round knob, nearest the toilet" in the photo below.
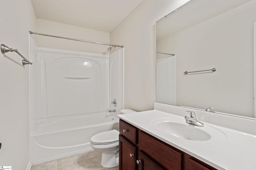
{"type": "Polygon", "coordinates": [[[122,136],[126,137],[130,142],[136,144],[137,142],[137,129],[132,125],[126,123],[122,119],[119,121],[119,130],[122,136]]]}

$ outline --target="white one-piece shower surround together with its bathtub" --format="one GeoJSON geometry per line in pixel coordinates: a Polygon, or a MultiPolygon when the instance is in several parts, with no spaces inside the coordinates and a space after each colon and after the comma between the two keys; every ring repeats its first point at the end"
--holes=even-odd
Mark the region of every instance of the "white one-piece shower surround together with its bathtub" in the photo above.
{"type": "Polygon", "coordinates": [[[30,36],[30,60],[32,164],[92,150],[92,136],[118,130],[123,48],[111,54],[42,48],[30,36]]]}

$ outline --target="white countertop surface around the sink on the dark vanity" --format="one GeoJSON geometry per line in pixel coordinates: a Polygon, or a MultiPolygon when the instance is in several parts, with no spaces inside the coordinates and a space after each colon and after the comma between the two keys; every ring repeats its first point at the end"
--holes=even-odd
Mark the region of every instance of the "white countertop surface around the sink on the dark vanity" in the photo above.
{"type": "Polygon", "coordinates": [[[156,127],[150,123],[152,120],[162,117],[184,119],[182,116],[158,110],[142,111],[118,116],[120,119],[202,160],[218,170],[256,169],[256,136],[254,135],[203,122],[204,125],[222,131],[224,137],[213,136],[208,141],[191,141],[168,135],[156,129],[156,127]]]}

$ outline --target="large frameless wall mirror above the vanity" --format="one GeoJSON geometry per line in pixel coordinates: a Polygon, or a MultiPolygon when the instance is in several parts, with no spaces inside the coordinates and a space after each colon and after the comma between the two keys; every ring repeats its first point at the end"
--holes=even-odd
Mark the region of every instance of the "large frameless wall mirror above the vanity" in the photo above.
{"type": "Polygon", "coordinates": [[[255,119],[254,41],[256,0],[190,0],[156,22],[156,102],[255,119]]]}

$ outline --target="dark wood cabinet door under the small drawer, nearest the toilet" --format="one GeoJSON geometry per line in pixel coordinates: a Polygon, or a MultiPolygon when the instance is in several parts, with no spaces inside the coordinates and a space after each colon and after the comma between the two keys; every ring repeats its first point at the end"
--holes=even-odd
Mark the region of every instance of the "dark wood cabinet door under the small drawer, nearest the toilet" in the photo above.
{"type": "Polygon", "coordinates": [[[136,147],[119,135],[119,170],[136,169],[136,147]]]}

